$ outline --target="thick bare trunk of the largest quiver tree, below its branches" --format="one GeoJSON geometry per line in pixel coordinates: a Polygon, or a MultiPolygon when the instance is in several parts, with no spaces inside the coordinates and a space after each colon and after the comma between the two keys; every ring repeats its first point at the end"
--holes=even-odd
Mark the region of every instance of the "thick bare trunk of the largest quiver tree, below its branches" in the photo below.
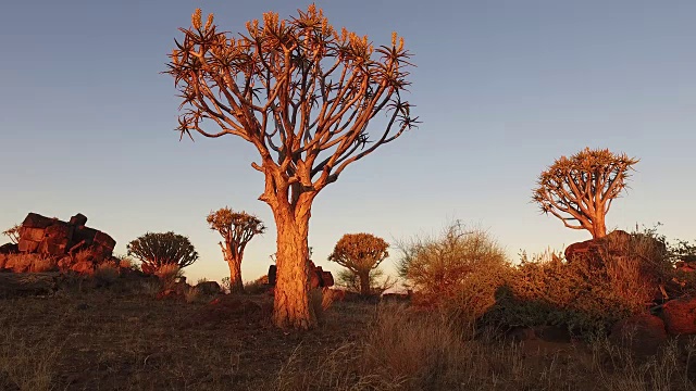
{"type": "Polygon", "coordinates": [[[309,212],[295,217],[284,203],[271,205],[277,227],[277,280],[273,323],[281,328],[309,329],[316,316],[309,303],[309,212]]]}

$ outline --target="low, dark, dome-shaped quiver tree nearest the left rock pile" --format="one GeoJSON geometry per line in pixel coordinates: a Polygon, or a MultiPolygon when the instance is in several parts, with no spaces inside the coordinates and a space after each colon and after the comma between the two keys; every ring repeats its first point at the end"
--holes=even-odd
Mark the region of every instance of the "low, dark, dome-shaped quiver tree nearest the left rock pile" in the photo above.
{"type": "Polygon", "coordinates": [[[140,260],[142,272],[157,274],[162,266],[178,269],[198,260],[198,252],[187,237],[174,232],[147,232],[126,245],[128,255],[140,260]]]}

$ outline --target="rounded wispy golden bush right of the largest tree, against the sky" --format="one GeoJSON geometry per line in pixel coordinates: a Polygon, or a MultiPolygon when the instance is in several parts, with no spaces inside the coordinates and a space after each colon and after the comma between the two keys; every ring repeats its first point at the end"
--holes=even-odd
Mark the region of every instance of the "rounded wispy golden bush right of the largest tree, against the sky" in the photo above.
{"type": "Polygon", "coordinates": [[[414,304],[447,308],[465,320],[495,304],[495,292],[510,274],[504,250],[478,229],[456,222],[442,237],[401,244],[399,274],[413,288],[414,304]]]}

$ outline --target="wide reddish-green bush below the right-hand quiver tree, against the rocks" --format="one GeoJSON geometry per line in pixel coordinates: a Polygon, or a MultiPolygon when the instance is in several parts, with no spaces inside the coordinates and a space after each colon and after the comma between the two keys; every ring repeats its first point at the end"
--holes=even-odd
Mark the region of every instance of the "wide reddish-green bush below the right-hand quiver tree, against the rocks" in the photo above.
{"type": "Polygon", "coordinates": [[[649,232],[607,238],[597,253],[572,262],[548,251],[532,260],[523,253],[483,321],[505,327],[560,326],[592,336],[647,311],[661,281],[673,273],[664,245],[649,232]]]}

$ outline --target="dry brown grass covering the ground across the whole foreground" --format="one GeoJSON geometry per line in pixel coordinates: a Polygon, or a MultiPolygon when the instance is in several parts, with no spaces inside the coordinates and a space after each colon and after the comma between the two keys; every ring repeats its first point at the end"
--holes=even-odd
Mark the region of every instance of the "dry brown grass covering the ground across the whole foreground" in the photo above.
{"type": "Polygon", "coordinates": [[[436,312],[364,302],[284,332],[271,298],[226,299],[237,302],[112,290],[0,300],[0,389],[696,390],[694,340],[654,357],[606,340],[500,342],[436,312]]]}

